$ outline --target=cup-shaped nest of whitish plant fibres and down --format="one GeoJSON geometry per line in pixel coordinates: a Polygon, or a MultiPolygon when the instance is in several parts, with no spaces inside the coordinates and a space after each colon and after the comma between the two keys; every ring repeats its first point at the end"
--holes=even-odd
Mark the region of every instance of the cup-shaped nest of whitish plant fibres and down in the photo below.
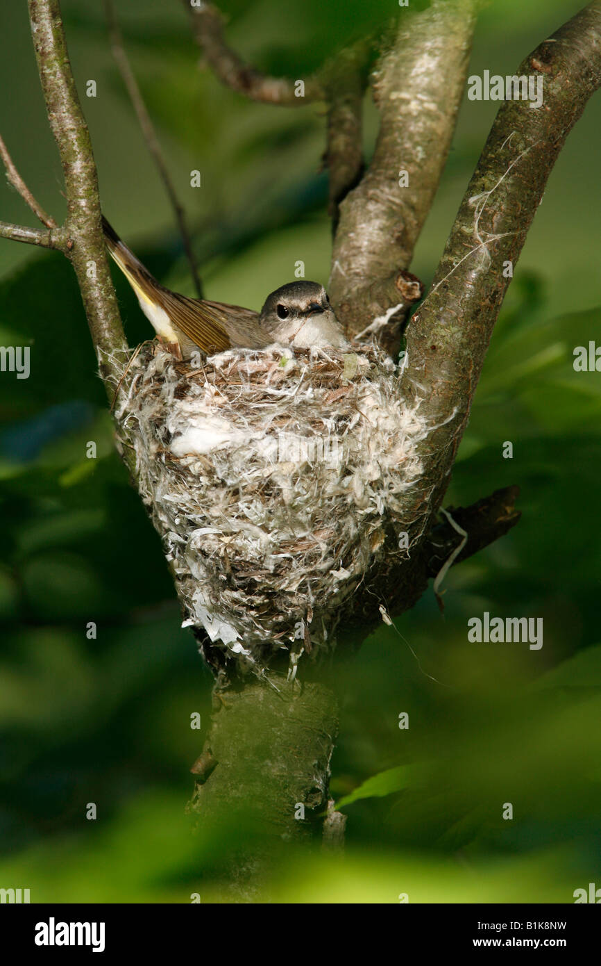
{"type": "Polygon", "coordinates": [[[399,497],[429,432],[374,345],[231,350],[199,366],[151,344],[118,412],[177,582],[183,626],[243,670],[332,646],[369,572],[409,549],[399,497]]]}

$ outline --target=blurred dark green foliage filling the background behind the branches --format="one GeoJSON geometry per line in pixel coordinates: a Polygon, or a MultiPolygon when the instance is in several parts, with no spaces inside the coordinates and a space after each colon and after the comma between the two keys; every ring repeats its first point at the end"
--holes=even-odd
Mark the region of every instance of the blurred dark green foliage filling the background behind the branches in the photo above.
{"type": "MultiPolygon", "coordinates": [[[[278,4],[277,15],[275,0],[223,6],[232,43],[290,76],[313,70],[383,15],[381,4],[346,0],[278,4]]],[[[493,0],[474,70],[512,71],[579,6],[493,0]]],[[[118,7],[193,216],[207,295],[257,306],[297,258],[308,277],[325,281],[318,112],[249,104],[199,73],[180,4],[118,7]],[[191,167],[203,170],[198,198],[186,187],[191,167]]],[[[99,14],[82,0],[65,0],[64,9],[80,91],[89,76],[100,81],[85,108],[107,213],[123,234],[146,232],[137,248],[150,269],[191,293],[99,14]]],[[[21,99],[39,99],[26,18],[6,15],[7,36],[14,32],[14,50],[22,49],[7,139],[28,183],[60,215],[47,135],[39,155],[47,163],[36,164],[17,124],[21,99]]],[[[462,109],[418,251],[425,279],[493,110],[462,109]]],[[[601,377],[572,365],[574,348],[601,330],[591,268],[599,226],[587,205],[599,105],[589,111],[596,114],[571,136],[516,270],[447,499],[467,504],[518,483],[523,519],[451,571],[444,615],[428,592],[358,654],[346,656],[341,641],[332,791],[348,815],[346,857],[287,849],[275,873],[283,901],[396,902],[407,893],[412,902],[569,902],[595,877],[599,884],[601,377]],[[468,642],[467,621],[483,611],[542,616],[543,647],[468,642]],[[506,802],[511,821],[502,817],[506,802]]],[[[28,116],[43,128],[39,103],[28,116]]],[[[374,131],[368,110],[368,144],[374,131]]],[[[24,219],[14,193],[0,198],[3,217],[24,219]]],[[[236,833],[192,836],[183,807],[203,744],[190,715],[207,723],[211,678],[179,630],[158,538],[113,451],[71,270],[57,254],[9,242],[0,255],[0,343],[30,346],[32,360],[28,380],[0,377],[0,885],[28,887],[33,901],[187,902],[192,892],[209,901],[216,858],[236,833]],[[11,271],[17,258],[24,261],[11,271]],[[89,802],[96,821],[85,818],[89,802]]],[[[117,284],[135,343],[148,327],[117,284]]]]}

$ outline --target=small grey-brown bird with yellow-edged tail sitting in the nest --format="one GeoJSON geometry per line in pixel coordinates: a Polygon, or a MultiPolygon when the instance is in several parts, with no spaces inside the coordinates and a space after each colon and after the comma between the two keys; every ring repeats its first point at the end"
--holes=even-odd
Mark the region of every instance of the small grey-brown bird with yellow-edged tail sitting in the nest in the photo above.
{"type": "Polygon", "coordinates": [[[318,282],[288,282],[271,292],[260,312],[188,298],[161,285],[102,216],[109,254],[138,298],[159,340],[178,359],[232,348],[266,349],[274,343],[298,348],[348,346],[328,294],[318,282]]]}

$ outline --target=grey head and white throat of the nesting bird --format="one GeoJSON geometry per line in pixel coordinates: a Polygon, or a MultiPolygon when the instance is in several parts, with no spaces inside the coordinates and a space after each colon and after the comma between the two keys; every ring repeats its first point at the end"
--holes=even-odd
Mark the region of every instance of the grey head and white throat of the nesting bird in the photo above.
{"type": "Polygon", "coordinates": [[[274,342],[310,348],[347,345],[323,285],[288,282],[265,299],[260,324],[274,342]]]}

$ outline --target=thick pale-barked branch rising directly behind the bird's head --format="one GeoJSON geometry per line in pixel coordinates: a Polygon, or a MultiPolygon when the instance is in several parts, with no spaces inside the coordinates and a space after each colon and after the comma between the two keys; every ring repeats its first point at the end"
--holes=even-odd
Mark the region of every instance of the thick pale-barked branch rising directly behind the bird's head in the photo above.
{"type": "Polygon", "coordinates": [[[477,0],[433,0],[423,13],[402,14],[394,43],[372,72],[380,131],[366,175],[341,204],[329,292],[351,336],[398,306],[381,340],[393,352],[411,304],[400,273],[449,154],[476,7],[477,0]],[[402,171],[407,186],[399,185],[402,171]]]}

